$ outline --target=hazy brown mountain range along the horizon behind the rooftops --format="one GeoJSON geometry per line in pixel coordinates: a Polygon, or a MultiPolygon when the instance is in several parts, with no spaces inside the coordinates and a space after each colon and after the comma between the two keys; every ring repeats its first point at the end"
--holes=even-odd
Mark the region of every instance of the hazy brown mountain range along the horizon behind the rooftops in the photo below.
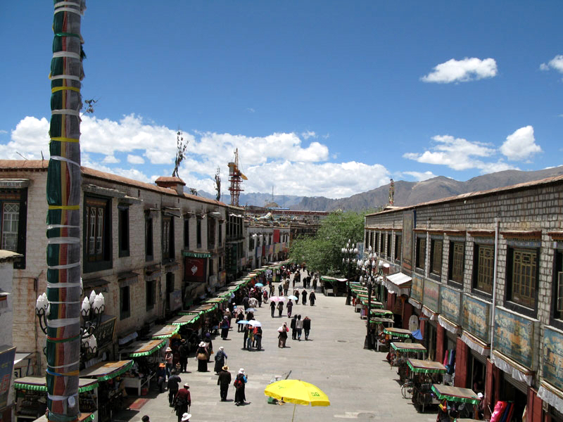
{"type": "MultiPolygon", "coordinates": [[[[450,196],[461,195],[462,193],[487,191],[493,188],[502,188],[514,184],[524,183],[555,177],[563,174],[563,166],[552,167],[545,170],[533,172],[522,172],[519,170],[505,170],[483,174],[467,181],[457,181],[448,177],[438,176],[424,181],[395,181],[394,204],[398,207],[416,205],[429,200],[448,198],[450,196]]],[[[198,192],[205,198],[215,198],[214,195],[198,192]]],[[[223,195],[221,200],[230,203],[229,195],[223,195]]],[[[372,210],[383,207],[389,203],[389,184],[379,186],[370,191],[357,193],[348,198],[331,199],[323,196],[292,196],[275,195],[271,193],[241,193],[239,204],[265,206],[267,203],[277,203],[279,207],[290,208],[291,210],[309,211],[334,211],[334,210],[372,210]]]]}

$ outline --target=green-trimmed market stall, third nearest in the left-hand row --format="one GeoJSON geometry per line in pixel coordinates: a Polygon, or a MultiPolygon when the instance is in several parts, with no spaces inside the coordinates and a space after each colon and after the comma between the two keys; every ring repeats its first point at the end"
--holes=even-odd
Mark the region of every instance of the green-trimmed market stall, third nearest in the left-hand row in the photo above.
{"type": "Polygon", "coordinates": [[[132,368],[122,377],[125,388],[134,388],[139,396],[143,388],[148,391],[151,380],[156,376],[156,368],[160,363],[156,352],[165,345],[166,340],[164,339],[137,341],[120,350],[120,359],[134,360],[132,368]]]}

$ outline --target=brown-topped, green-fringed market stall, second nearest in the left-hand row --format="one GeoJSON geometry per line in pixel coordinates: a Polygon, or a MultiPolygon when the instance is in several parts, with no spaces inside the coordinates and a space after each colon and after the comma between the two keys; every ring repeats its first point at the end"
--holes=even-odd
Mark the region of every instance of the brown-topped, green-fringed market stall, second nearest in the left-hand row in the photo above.
{"type": "Polygon", "coordinates": [[[112,421],[115,411],[122,409],[125,383],[120,376],[133,366],[132,360],[100,362],[80,371],[80,378],[92,378],[99,383],[98,399],[103,406],[99,408],[100,422],[112,421]]]}

